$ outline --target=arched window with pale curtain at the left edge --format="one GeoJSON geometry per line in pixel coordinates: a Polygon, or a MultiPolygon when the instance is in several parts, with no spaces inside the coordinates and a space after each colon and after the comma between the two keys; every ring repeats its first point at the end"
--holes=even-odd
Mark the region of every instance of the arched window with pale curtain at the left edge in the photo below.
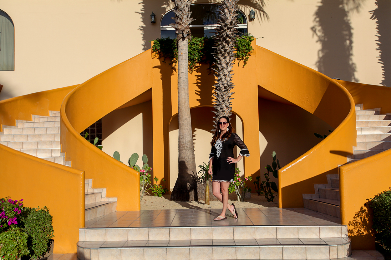
{"type": "Polygon", "coordinates": [[[0,10],[0,71],[14,70],[14,23],[0,10]]]}

